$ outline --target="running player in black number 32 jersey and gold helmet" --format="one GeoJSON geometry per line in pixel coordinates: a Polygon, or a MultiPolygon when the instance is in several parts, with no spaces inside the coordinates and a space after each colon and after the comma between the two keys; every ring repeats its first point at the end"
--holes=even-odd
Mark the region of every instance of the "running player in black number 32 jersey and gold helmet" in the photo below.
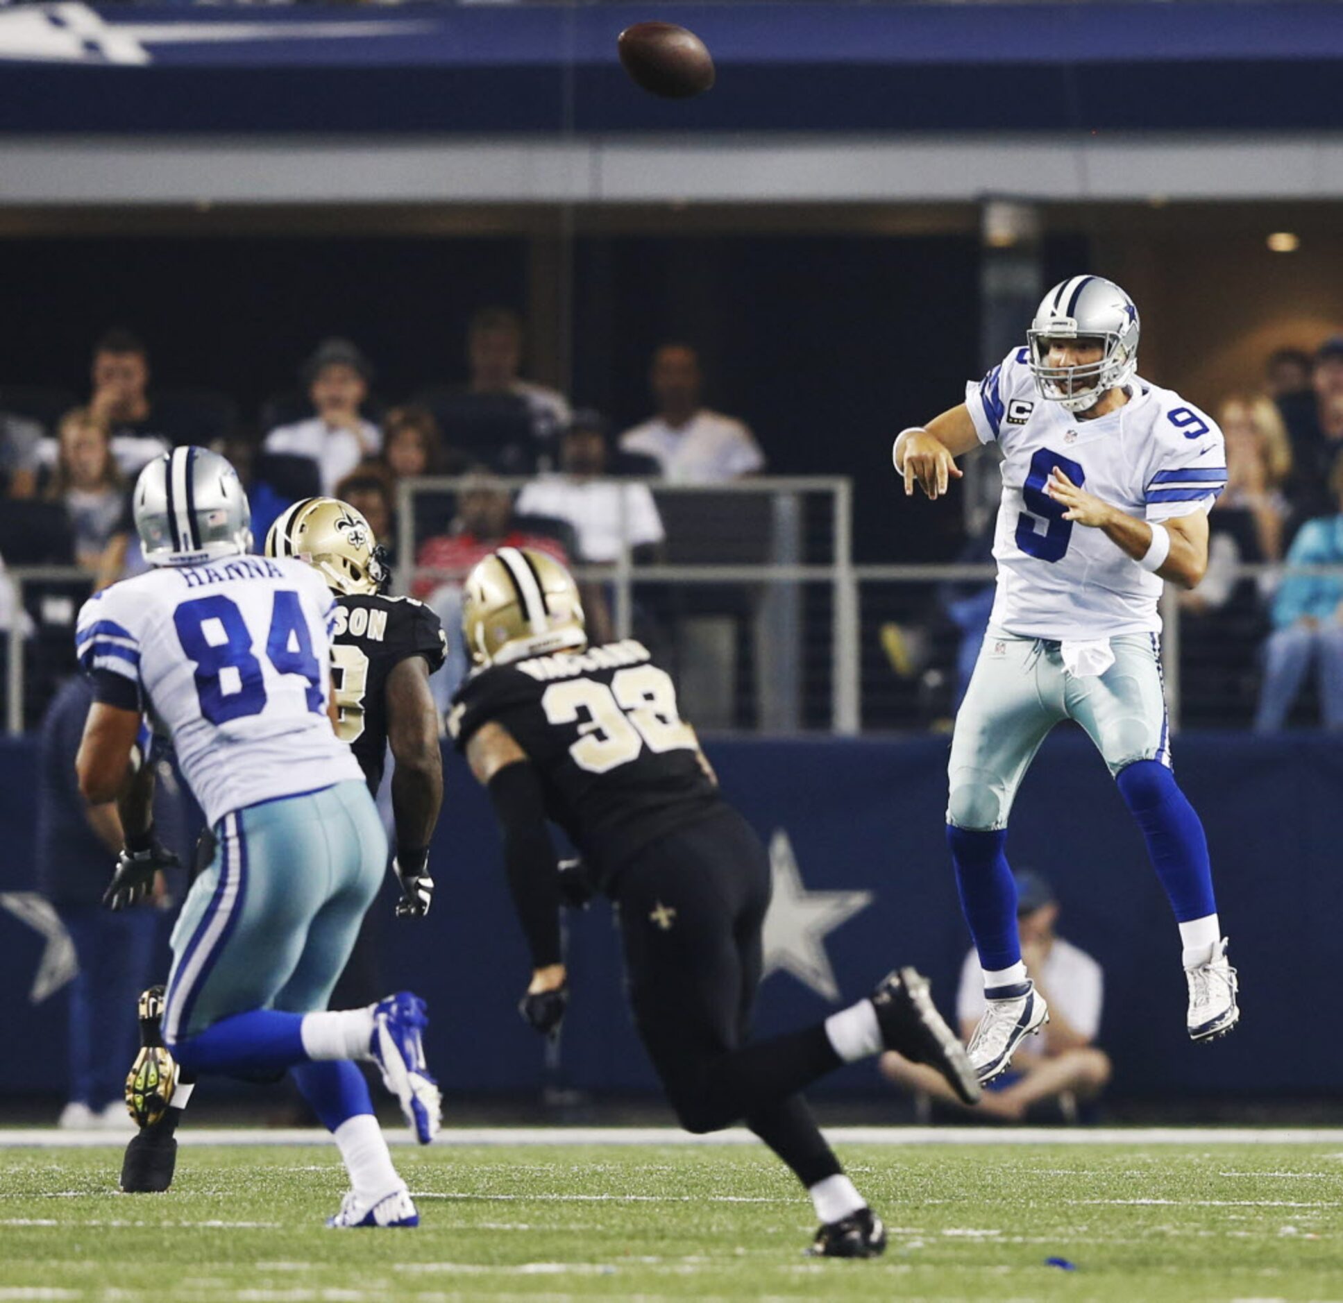
{"type": "Polygon", "coordinates": [[[532,953],[522,1016],[552,1033],[568,1000],[561,896],[547,821],[568,833],[586,878],[619,906],[634,1019],[681,1123],[745,1122],[807,1188],[813,1252],[870,1257],[885,1229],[798,1094],[843,1063],[898,1048],[967,1103],[979,1084],[913,969],[815,1027],[749,1041],[761,970],[770,862],[723,798],[670,676],[634,640],[588,647],[568,572],[501,548],[466,581],[462,632],[475,672],[449,731],[486,786],[513,904],[532,953]]]}

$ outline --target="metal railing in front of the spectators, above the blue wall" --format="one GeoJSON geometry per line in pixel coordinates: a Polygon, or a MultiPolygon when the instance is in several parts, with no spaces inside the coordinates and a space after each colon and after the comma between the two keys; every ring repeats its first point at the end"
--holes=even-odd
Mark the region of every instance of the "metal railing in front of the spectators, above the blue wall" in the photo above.
{"type": "MultiPolygon", "coordinates": [[[[447,577],[414,565],[416,545],[438,531],[416,538],[416,502],[436,498],[446,511],[461,490],[481,483],[471,476],[400,486],[399,592],[447,577]]],[[[486,483],[512,490],[532,480],[486,483]]],[[[586,593],[608,604],[614,636],[643,637],[669,663],[688,717],[702,727],[771,735],[950,727],[958,656],[974,649],[975,636],[966,639],[948,604],[987,593],[991,564],[854,564],[846,479],[612,483],[647,484],[669,533],[681,537],[669,538],[654,564],[639,564],[624,546],[612,562],[576,565],[575,574],[586,593]]],[[[446,514],[439,521],[446,529],[446,514]]],[[[1285,574],[1338,578],[1343,566],[1238,565],[1236,582],[1250,594],[1238,612],[1186,611],[1167,586],[1163,664],[1172,729],[1250,723],[1269,632],[1265,594],[1285,574]]],[[[12,588],[9,619],[0,624],[0,709],[17,735],[38,727],[56,686],[75,670],[74,621],[93,581],[74,566],[15,566],[0,582],[12,588]]],[[[455,627],[449,636],[459,644],[455,627]]],[[[1312,695],[1308,684],[1293,722],[1313,721],[1312,695]]]]}

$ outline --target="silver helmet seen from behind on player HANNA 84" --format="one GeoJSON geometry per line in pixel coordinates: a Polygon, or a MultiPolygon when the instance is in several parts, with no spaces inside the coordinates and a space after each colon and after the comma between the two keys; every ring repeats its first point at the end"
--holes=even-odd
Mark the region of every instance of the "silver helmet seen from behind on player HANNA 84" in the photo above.
{"type": "Polygon", "coordinates": [[[238,472],[208,448],[154,458],[132,495],[136,531],[150,565],[200,565],[251,549],[251,507],[238,472]]]}

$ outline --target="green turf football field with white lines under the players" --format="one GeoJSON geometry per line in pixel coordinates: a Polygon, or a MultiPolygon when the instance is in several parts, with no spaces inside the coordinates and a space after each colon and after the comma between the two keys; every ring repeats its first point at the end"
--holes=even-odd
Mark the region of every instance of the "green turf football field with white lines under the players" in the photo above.
{"type": "Polygon", "coordinates": [[[115,1192],[115,1149],[0,1149],[0,1300],[1343,1300],[1336,1135],[839,1147],[882,1259],[806,1259],[753,1145],[398,1147],[420,1228],[349,1232],[328,1147],[184,1141],[160,1196],[115,1192]]]}

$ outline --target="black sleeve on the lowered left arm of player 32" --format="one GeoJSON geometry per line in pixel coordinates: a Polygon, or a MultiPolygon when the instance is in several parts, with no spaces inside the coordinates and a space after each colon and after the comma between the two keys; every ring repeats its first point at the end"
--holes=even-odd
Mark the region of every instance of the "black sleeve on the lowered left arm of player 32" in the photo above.
{"type": "Polygon", "coordinates": [[[545,798],[528,761],[505,765],[489,782],[494,817],[504,839],[513,908],[532,951],[532,968],[561,962],[560,880],[545,823],[545,798]]]}

